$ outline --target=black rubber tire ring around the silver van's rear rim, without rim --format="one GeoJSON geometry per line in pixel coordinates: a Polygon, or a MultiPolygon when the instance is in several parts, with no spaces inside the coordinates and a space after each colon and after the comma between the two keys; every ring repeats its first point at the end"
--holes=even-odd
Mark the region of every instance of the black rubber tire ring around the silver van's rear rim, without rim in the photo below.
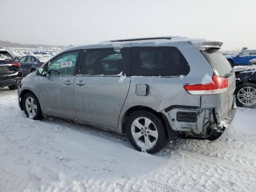
{"type": "Polygon", "coordinates": [[[150,154],[153,154],[162,150],[162,148],[166,146],[168,141],[168,133],[166,130],[166,124],[164,122],[164,119],[160,115],[151,113],[146,110],[138,110],[130,114],[126,123],[126,134],[127,134],[128,140],[130,141],[132,146],[134,146],[134,148],[136,148],[138,151],[146,150],[146,152],[150,154]],[[147,148],[143,149],[142,147],[140,147],[132,136],[132,123],[138,117],[146,117],[150,119],[155,124],[158,131],[158,139],[156,140],[156,143],[154,144],[154,146],[148,149],[147,148]]]}

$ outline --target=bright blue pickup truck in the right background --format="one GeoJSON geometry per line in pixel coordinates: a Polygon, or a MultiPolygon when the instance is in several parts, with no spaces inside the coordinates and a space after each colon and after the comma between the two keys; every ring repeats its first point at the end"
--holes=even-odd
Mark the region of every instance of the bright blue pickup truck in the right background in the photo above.
{"type": "Polygon", "coordinates": [[[249,61],[256,58],[256,50],[244,50],[234,55],[225,55],[232,67],[236,65],[249,65],[249,61]]]}

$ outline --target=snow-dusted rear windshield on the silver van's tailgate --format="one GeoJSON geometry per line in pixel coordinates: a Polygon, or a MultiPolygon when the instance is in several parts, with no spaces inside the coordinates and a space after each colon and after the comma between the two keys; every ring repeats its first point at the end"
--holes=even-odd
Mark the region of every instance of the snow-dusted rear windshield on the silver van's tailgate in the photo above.
{"type": "Polygon", "coordinates": [[[217,49],[208,49],[200,52],[212,66],[214,75],[228,78],[234,74],[228,60],[217,49]]]}

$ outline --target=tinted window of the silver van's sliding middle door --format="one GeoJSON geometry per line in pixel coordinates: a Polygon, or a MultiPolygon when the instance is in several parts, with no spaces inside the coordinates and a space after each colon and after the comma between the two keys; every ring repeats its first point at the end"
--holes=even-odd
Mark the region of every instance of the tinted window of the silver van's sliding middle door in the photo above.
{"type": "Polygon", "coordinates": [[[126,49],[86,50],[82,75],[122,76],[126,49]]]}

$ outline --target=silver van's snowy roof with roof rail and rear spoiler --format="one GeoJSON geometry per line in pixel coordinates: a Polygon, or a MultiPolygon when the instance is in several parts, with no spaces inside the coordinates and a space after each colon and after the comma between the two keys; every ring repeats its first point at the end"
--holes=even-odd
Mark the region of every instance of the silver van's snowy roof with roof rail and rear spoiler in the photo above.
{"type": "Polygon", "coordinates": [[[166,44],[166,43],[189,42],[198,50],[205,50],[208,48],[220,49],[220,47],[223,44],[219,40],[208,40],[203,38],[188,38],[188,37],[182,37],[182,36],[161,36],[161,37],[108,40],[108,41],[102,41],[96,44],[86,44],[81,46],[75,46],[72,48],[68,48],[67,50],[94,49],[94,48],[123,48],[123,47],[130,47],[132,42],[136,42],[136,44],[148,42],[150,43],[150,46],[160,46],[160,44],[166,44]]]}

